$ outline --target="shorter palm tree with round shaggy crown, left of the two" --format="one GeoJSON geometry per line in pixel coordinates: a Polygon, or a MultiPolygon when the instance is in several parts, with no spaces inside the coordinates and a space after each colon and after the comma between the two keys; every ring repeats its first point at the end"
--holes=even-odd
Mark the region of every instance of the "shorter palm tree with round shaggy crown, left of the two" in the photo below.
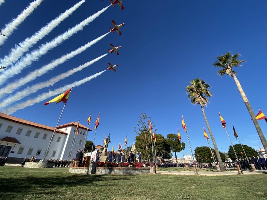
{"type": "Polygon", "coordinates": [[[215,139],[212,135],[211,129],[209,127],[209,123],[207,120],[207,116],[204,110],[204,106],[207,106],[207,103],[209,103],[208,97],[212,97],[212,93],[209,91],[210,85],[206,83],[206,81],[201,80],[200,78],[193,79],[193,81],[190,81],[191,85],[187,85],[186,87],[186,93],[188,94],[188,99],[191,100],[191,103],[193,105],[198,104],[201,107],[205,122],[208,127],[208,131],[215,149],[215,153],[218,158],[219,166],[221,168],[221,171],[226,171],[224,167],[224,163],[221,160],[221,156],[218,150],[218,147],[216,145],[215,139]]]}

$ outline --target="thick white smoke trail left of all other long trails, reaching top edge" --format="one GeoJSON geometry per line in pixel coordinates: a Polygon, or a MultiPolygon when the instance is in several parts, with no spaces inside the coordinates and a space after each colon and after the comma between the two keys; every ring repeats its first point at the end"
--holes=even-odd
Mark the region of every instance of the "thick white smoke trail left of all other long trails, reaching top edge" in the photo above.
{"type": "MultiPolygon", "coordinates": [[[[20,25],[33,11],[37,8],[43,0],[36,0],[29,4],[29,6],[23,10],[16,19],[13,19],[10,23],[5,25],[5,28],[2,29],[3,33],[8,37],[10,36],[17,26],[20,25]]],[[[7,37],[0,38],[0,44],[3,44],[7,37]]]]}

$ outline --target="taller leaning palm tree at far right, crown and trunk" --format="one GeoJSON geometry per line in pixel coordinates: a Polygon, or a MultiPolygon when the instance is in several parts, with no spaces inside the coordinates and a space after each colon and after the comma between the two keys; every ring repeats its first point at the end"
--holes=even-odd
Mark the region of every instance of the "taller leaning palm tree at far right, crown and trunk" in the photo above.
{"type": "Polygon", "coordinates": [[[242,97],[242,99],[243,99],[243,101],[244,101],[244,103],[245,103],[245,105],[246,105],[246,107],[248,109],[248,112],[250,113],[250,116],[252,118],[254,126],[255,126],[255,128],[256,128],[256,130],[258,132],[258,135],[260,137],[262,145],[263,145],[264,149],[267,149],[267,141],[266,141],[266,139],[265,139],[265,137],[264,137],[264,135],[262,133],[262,130],[260,128],[260,125],[259,125],[258,121],[256,120],[255,114],[254,114],[254,112],[252,110],[252,107],[251,107],[249,101],[248,101],[248,98],[246,97],[246,94],[244,93],[244,91],[243,91],[243,89],[242,89],[242,87],[240,85],[240,82],[236,78],[236,72],[233,70],[233,67],[240,67],[241,66],[240,63],[246,62],[244,60],[238,60],[239,56],[240,56],[240,53],[232,55],[230,53],[230,51],[229,51],[224,55],[218,56],[217,57],[217,61],[215,61],[213,63],[213,66],[222,68],[222,69],[220,69],[218,71],[218,74],[220,76],[223,76],[223,75],[227,74],[230,77],[234,78],[234,81],[236,82],[236,86],[237,86],[237,88],[238,88],[238,90],[239,90],[239,92],[241,94],[241,97],[242,97]]]}

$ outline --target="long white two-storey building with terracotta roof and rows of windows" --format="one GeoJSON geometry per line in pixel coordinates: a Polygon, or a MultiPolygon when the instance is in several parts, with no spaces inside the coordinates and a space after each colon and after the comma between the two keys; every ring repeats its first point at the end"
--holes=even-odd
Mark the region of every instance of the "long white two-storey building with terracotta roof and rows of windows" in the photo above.
{"type": "MultiPolygon", "coordinates": [[[[79,134],[76,135],[77,125],[78,122],[74,121],[58,126],[46,159],[69,160],[75,158],[78,149],[84,149],[87,127],[80,124],[79,134]]],[[[32,155],[37,159],[43,159],[54,129],[55,127],[0,113],[0,156],[7,156],[8,160],[15,161],[32,155]]]]}

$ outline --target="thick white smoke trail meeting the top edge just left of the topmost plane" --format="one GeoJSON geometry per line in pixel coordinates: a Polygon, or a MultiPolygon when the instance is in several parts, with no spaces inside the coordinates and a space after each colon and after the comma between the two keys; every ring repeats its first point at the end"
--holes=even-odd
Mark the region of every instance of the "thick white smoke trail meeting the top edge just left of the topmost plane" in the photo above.
{"type": "Polygon", "coordinates": [[[24,52],[28,51],[29,48],[48,35],[56,26],[70,16],[85,1],[86,0],[82,0],[76,3],[73,7],[66,10],[64,13],[61,13],[58,17],[56,17],[56,19],[53,19],[46,26],[42,27],[38,32],[34,33],[30,38],[27,37],[25,41],[20,42],[19,45],[15,45],[15,47],[9,52],[9,55],[6,55],[3,59],[0,59],[1,65],[7,67],[12,63],[15,63],[24,52]]]}

